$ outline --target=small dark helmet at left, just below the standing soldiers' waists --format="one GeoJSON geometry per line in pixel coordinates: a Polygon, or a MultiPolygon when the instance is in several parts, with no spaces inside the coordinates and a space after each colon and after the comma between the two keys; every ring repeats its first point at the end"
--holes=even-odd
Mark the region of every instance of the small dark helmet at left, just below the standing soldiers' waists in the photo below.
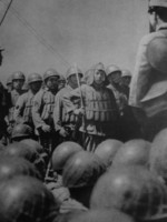
{"type": "Polygon", "coordinates": [[[33,135],[32,129],[27,124],[20,123],[13,128],[12,133],[11,133],[11,139],[16,140],[16,139],[26,138],[26,137],[31,138],[32,135],[33,135]]]}

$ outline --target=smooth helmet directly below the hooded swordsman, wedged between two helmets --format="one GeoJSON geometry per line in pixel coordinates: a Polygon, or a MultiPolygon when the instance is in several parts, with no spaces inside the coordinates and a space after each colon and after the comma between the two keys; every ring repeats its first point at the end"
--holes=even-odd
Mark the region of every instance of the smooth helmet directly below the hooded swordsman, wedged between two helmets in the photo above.
{"type": "Polygon", "coordinates": [[[122,145],[122,142],[118,140],[105,140],[96,148],[95,153],[100,158],[100,160],[106,164],[106,167],[111,165],[114,157],[116,155],[117,151],[122,145]]]}

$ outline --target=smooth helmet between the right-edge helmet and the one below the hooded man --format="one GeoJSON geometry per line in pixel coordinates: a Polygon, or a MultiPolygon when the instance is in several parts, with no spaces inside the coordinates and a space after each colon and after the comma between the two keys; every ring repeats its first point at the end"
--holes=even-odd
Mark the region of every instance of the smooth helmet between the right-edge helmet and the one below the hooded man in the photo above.
{"type": "Polygon", "coordinates": [[[129,140],[116,153],[112,165],[148,165],[149,150],[149,142],[141,139],[129,140]]]}

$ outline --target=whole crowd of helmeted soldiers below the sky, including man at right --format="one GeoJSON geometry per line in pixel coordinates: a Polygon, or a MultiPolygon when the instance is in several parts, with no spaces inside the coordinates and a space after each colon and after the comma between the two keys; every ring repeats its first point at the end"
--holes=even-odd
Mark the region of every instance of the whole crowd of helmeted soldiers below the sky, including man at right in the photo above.
{"type": "Polygon", "coordinates": [[[167,220],[167,0],[148,2],[132,78],[99,62],[0,83],[0,222],[167,220]]]}

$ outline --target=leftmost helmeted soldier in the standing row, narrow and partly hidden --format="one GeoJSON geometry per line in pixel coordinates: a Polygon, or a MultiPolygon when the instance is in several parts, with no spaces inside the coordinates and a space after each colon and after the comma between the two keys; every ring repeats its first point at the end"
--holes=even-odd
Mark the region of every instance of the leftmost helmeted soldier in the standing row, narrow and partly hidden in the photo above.
{"type": "Polygon", "coordinates": [[[12,128],[14,125],[14,107],[18,101],[18,98],[24,92],[22,90],[23,83],[24,83],[24,74],[20,71],[14,72],[12,74],[12,85],[13,90],[11,91],[11,105],[9,109],[9,115],[8,115],[8,133],[11,134],[12,128]]]}

